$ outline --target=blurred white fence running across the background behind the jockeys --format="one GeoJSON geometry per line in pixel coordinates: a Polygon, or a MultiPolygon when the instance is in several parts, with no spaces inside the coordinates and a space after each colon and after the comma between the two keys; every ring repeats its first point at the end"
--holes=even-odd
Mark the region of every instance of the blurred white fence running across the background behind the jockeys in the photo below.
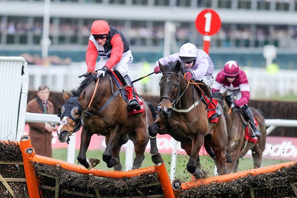
{"type": "MultiPolygon", "coordinates": [[[[132,63],[129,70],[129,76],[132,80],[136,80],[153,71],[154,63],[150,63],[150,72],[145,73],[143,63],[132,63]]],[[[288,94],[297,95],[297,71],[296,70],[279,70],[277,74],[269,74],[264,68],[242,67],[246,73],[250,83],[251,99],[269,98],[271,96],[285,96],[288,94]]],[[[37,90],[41,84],[47,84],[50,91],[62,92],[70,91],[77,88],[82,81],[79,75],[87,71],[85,63],[77,63],[75,65],[51,65],[37,66],[29,65],[28,73],[30,75],[30,90],[37,90]]],[[[214,71],[214,76],[219,70],[214,71]]],[[[142,81],[134,83],[137,92],[140,95],[147,94],[159,96],[159,82],[161,74],[152,74],[148,76],[148,83],[143,84],[142,81]],[[145,93],[144,86],[148,92],[145,93]]]]}

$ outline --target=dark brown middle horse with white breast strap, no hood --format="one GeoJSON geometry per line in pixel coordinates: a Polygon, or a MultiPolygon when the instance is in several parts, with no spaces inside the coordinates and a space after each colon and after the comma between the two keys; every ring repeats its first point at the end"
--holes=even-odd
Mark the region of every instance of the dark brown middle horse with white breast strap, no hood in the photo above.
{"type": "MultiPolygon", "coordinates": [[[[169,134],[181,143],[190,156],[187,170],[196,178],[206,177],[201,170],[199,162],[199,150],[204,141],[205,148],[212,148],[218,174],[225,174],[226,145],[228,141],[226,121],[224,116],[218,118],[218,122],[210,122],[207,118],[206,103],[202,92],[196,88],[188,87],[188,81],[181,74],[181,63],[168,62],[165,65],[159,63],[162,78],[160,80],[160,100],[158,106],[159,115],[149,126],[152,160],[157,152],[156,144],[152,140],[156,134],[169,134]]],[[[202,87],[202,85],[201,85],[202,87]]],[[[204,84],[204,87],[206,85],[204,84]]],[[[220,105],[218,107],[221,109],[220,105]]],[[[209,149],[206,149],[208,152],[209,149]]]]}

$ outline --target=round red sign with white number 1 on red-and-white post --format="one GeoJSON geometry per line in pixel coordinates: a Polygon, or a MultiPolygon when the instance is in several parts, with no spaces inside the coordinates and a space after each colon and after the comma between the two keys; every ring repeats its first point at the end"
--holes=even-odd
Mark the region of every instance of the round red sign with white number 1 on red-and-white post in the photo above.
{"type": "Polygon", "coordinates": [[[203,50],[209,53],[210,36],[217,33],[222,25],[220,16],[212,9],[202,10],[195,21],[197,31],[204,35],[203,50]]]}

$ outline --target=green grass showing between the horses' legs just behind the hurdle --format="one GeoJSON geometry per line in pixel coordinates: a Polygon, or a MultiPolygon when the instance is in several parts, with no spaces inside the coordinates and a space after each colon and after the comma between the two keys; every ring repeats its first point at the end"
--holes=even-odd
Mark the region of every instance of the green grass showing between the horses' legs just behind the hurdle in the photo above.
{"type": "MultiPolygon", "coordinates": [[[[106,166],[106,163],[102,160],[102,150],[89,150],[87,151],[87,158],[97,158],[101,162],[95,167],[97,169],[102,170],[113,170],[112,168],[109,169],[106,166]]],[[[78,164],[78,161],[76,159],[78,155],[78,150],[76,150],[75,153],[75,163],[78,164]]],[[[55,159],[60,159],[63,161],[67,161],[67,150],[66,149],[53,149],[52,151],[52,157],[55,159]]],[[[125,166],[125,152],[120,152],[120,158],[122,166],[125,166]]],[[[167,168],[168,174],[170,174],[170,166],[171,166],[171,155],[170,154],[162,154],[162,158],[165,162],[165,166],[167,168]]],[[[191,180],[191,174],[187,171],[187,163],[188,163],[189,157],[186,155],[178,155],[177,156],[177,165],[175,169],[175,178],[180,179],[182,182],[187,182],[191,180]]],[[[279,164],[283,162],[287,162],[288,160],[274,160],[274,159],[263,159],[263,165],[262,166],[269,166],[274,164],[279,164]]],[[[200,156],[200,164],[203,170],[207,171],[208,176],[213,176],[213,166],[214,163],[211,161],[211,159],[208,156],[200,156]]],[[[148,167],[153,166],[154,164],[151,161],[150,154],[145,153],[145,160],[143,162],[142,167],[148,167]]],[[[243,159],[240,159],[239,163],[239,171],[252,169],[253,168],[253,161],[252,158],[244,157],[243,159]]],[[[124,168],[123,168],[124,170],[124,168]]]]}

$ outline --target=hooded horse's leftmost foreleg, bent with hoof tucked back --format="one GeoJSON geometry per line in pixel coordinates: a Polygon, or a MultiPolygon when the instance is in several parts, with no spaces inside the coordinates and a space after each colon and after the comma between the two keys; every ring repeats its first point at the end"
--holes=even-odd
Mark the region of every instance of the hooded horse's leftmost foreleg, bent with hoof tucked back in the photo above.
{"type": "Polygon", "coordinates": [[[84,126],[81,133],[81,144],[80,144],[77,160],[80,164],[85,166],[87,169],[91,169],[100,163],[99,159],[90,159],[88,161],[86,159],[86,152],[90,145],[92,135],[93,135],[92,132],[88,130],[86,126],[84,126]]]}

